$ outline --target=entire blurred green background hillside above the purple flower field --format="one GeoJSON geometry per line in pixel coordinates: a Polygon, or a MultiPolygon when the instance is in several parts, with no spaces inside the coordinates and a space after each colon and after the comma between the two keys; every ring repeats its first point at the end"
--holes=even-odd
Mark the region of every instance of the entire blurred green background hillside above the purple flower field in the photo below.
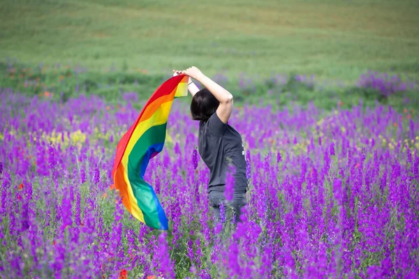
{"type": "Polygon", "coordinates": [[[198,66],[237,100],[403,106],[417,92],[418,15],[416,0],[3,0],[0,86],[146,98],[198,66]]]}

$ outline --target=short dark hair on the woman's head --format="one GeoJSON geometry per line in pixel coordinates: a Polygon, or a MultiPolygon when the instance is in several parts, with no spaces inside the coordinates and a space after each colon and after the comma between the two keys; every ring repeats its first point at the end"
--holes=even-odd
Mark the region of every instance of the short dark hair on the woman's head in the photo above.
{"type": "Polygon", "coordinates": [[[193,120],[207,121],[214,114],[220,102],[206,89],[200,89],[192,98],[191,114],[193,120]]]}

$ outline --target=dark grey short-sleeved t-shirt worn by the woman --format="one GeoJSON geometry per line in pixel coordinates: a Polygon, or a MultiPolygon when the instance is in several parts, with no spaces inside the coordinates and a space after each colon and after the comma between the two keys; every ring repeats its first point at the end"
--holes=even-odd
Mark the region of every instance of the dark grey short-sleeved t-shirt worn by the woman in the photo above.
{"type": "Polygon", "coordinates": [[[216,112],[208,121],[200,121],[198,153],[210,168],[208,192],[224,191],[229,164],[235,167],[235,192],[247,191],[246,159],[242,136],[228,123],[223,123],[216,112]]]}

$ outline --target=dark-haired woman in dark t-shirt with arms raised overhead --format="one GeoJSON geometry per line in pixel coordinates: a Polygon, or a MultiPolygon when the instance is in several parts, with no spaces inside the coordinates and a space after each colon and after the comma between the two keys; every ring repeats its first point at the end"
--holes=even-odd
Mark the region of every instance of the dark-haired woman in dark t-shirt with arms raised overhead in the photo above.
{"type": "Polygon", "coordinates": [[[188,75],[205,86],[199,90],[189,78],[188,89],[192,95],[191,114],[193,120],[200,121],[198,153],[210,169],[210,203],[219,222],[220,205],[223,204],[223,234],[228,234],[232,229],[232,221],[240,222],[240,208],[246,204],[248,186],[242,136],[228,125],[233,110],[233,96],[196,67],[173,71],[174,75],[188,75]],[[235,170],[234,195],[231,201],[226,201],[224,190],[226,173],[230,166],[235,170]]]}

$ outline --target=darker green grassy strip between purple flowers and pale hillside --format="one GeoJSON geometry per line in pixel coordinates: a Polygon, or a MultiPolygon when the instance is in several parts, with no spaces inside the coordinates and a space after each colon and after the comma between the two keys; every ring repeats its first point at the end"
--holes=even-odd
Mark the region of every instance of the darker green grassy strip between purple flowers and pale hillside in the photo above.
{"type": "MultiPolygon", "coordinates": [[[[60,66],[47,68],[27,67],[22,63],[13,62],[12,67],[0,62],[0,86],[22,92],[29,96],[46,96],[54,100],[66,102],[68,98],[78,94],[95,94],[104,98],[109,105],[127,105],[141,110],[145,100],[170,77],[169,74],[129,73],[127,70],[115,70],[106,73],[87,71],[78,73],[72,68],[60,66]],[[124,93],[135,92],[139,102],[124,100],[124,93]]],[[[391,105],[398,112],[418,115],[418,88],[411,91],[399,91],[385,97],[379,91],[357,87],[355,84],[337,86],[336,84],[304,84],[297,82],[295,76],[288,75],[284,84],[275,84],[268,79],[253,79],[248,76],[242,80],[248,86],[240,86],[240,79],[221,80],[220,84],[234,92],[235,105],[240,107],[246,103],[270,105],[272,109],[288,107],[293,110],[295,105],[307,106],[313,103],[326,111],[335,110],[338,106],[344,109],[359,105],[360,100],[365,107],[391,105]]],[[[200,85],[202,86],[202,85],[200,85]]],[[[189,103],[190,98],[180,98],[179,102],[189,103]]]]}

